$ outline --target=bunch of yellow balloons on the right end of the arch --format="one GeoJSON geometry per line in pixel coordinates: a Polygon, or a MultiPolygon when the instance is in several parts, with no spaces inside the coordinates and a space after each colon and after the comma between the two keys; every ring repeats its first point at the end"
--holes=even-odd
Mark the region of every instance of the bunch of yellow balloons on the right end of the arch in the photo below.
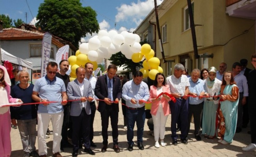
{"type": "Polygon", "coordinates": [[[135,53],[132,56],[133,62],[138,59],[140,56],[144,56],[145,60],[143,61],[143,68],[139,71],[143,73],[143,78],[149,77],[151,80],[155,80],[155,75],[157,73],[163,73],[163,69],[159,66],[160,60],[157,57],[154,57],[155,52],[151,49],[149,44],[143,44],[141,46],[141,52],[135,53]]]}

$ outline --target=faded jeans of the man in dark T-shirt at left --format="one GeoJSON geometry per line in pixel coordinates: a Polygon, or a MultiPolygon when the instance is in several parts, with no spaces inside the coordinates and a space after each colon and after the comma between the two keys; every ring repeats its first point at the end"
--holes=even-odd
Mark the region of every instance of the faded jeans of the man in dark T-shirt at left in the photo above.
{"type": "Polygon", "coordinates": [[[20,131],[20,138],[24,152],[31,152],[36,150],[36,125],[37,119],[17,120],[17,126],[20,131]]]}

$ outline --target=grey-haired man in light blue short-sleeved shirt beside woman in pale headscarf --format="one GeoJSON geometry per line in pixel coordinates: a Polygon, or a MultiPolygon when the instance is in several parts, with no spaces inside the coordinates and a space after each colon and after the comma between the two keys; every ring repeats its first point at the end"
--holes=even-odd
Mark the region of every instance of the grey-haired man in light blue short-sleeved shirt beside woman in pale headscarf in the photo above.
{"type": "Polygon", "coordinates": [[[190,121],[193,115],[194,125],[195,125],[194,135],[197,141],[201,141],[200,124],[201,124],[201,117],[202,117],[202,111],[203,111],[203,99],[200,96],[205,95],[205,89],[204,89],[205,82],[199,78],[200,78],[200,70],[193,69],[191,73],[191,77],[189,78],[190,86],[188,86],[188,89],[189,89],[189,95],[192,95],[194,97],[188,98],[187,134],[190,130],[190,121]]]}

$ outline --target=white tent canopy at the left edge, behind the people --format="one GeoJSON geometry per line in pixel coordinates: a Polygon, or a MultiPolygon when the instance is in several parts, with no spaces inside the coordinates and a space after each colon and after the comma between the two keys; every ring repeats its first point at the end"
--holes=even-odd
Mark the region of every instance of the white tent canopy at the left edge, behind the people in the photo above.
{"type": "Polygon", "coordinates": [[[1,58],[3,61],[8,60],[10,63],[24,66],[27,69],[33,69],[32,62],[28,62],[22,58],[15,57],[14,55],[11,55],[10,53],[6,52],[2,48],[1,48],[1,58]]]}

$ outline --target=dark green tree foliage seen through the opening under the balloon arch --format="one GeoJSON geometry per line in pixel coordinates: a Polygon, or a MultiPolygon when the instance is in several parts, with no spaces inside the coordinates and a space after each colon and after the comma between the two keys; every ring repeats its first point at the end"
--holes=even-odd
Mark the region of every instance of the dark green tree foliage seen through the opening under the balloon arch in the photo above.
{"type": "MultiPolygon", "coordinates": [[[[141,45],[149,44],[148,40],[144,40],[140,42],[141,45]]],[[[123,66],[126,69],[130,69],[130,72],[135,72],[136,67],[141,67],[143,62],[134,63],[131,59],[127,59],[121,51],[112,55],[108,60],[110,60],[111,64],[115,64],[116,66],[123,66]]]]}

